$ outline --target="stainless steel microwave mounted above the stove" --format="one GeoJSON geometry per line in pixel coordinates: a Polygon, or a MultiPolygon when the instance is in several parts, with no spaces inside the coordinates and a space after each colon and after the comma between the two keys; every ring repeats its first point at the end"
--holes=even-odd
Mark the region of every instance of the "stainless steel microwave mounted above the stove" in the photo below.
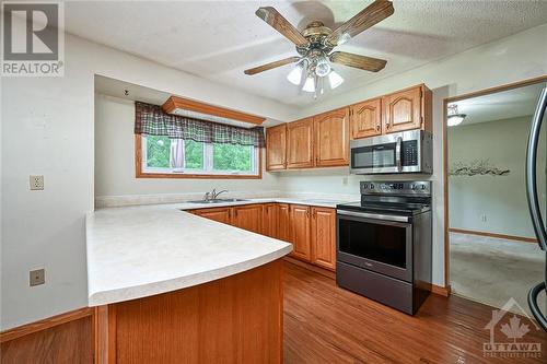
{"type": "Polygon", "coordinates": [[[433,138],[423,130],[350,141],[350,172],[357,175],[433,173],[433,138]]]}

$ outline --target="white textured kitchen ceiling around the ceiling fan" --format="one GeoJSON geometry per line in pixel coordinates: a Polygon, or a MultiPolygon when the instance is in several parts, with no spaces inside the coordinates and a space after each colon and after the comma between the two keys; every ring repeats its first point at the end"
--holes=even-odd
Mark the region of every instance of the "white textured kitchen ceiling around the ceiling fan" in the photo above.
{"type": "MultiPolygon", "coordinates": [[[[304,106],[310,94],[287,81],[291,66],[243,70],[296,55],[255,15],[274,5],[299,30],[312,20],[336,27],[372,1],[83,1],[66,3],[69,33],[281,103],[304,106]]],[[[338,50],[384,58],[379,73],[336,67],[340,94],[465,49],[540,25],[546,1],[394,1],[395,14],[338,50]]],[[[328,96],[323,96],[328,97],[328,96]]]]}

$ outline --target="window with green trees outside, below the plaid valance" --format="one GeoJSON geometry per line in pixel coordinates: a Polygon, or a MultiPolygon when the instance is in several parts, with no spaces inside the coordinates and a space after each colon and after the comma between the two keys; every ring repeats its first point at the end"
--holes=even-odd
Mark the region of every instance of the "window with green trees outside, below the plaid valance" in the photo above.
{"type": "Polygon", "coordinates": [[[137,136],[138,177],[260,177],[260,149],[167,137],[137,136]]]}

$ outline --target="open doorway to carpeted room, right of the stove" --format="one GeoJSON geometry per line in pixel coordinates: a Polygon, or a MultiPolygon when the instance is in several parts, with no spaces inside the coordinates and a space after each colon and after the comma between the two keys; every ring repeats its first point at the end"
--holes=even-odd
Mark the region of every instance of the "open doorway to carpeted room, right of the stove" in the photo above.
{"type": "MultiPolygon", "coordinates": [[[[529,313],[527,292],[545,278],[525,190],[527,138],[545,85],[543,80],[445,102],[445,248],[455,295],[493,307],[514,298],[529,313]]],[[[537,157],[545,218],[546,127],[537,157]]],[[[545,305],[545,295],[539,302],[545,305]]]]}

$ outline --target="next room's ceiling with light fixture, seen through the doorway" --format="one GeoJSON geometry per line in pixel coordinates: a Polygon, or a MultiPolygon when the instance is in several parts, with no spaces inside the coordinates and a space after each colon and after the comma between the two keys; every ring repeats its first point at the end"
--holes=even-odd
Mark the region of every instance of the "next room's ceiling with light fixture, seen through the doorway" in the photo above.
{"type": "Polygon", "coordinates": [[[534,114],[545,82],[524,87],[497,92],[478,97],[462,99],[450,105],[457,105],[457,111],[466,117],[461,126],[512,119],[534,114]]]}

